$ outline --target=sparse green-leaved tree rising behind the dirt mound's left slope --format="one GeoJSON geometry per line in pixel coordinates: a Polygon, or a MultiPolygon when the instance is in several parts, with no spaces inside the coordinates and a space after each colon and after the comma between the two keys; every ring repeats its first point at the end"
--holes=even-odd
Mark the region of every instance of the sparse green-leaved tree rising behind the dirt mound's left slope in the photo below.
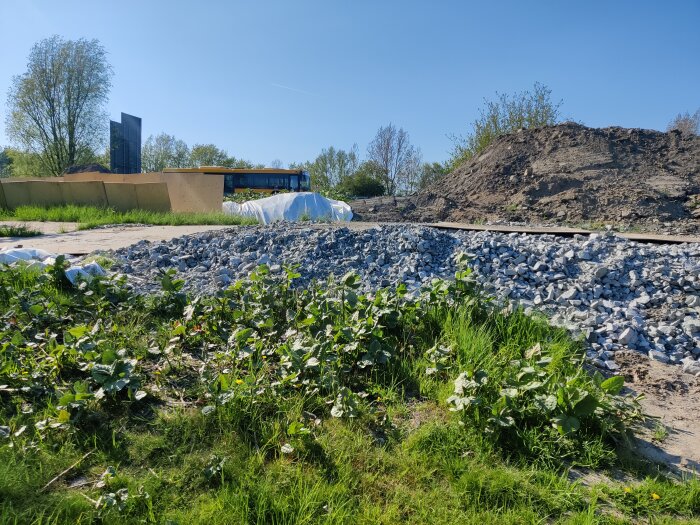
{"type": "Polygon", "coordinates": [[[513,95],[496,93],[496,100],[484,100],[471,131],[466,136],[452,137],[450,170],[479,155],[501,135],[559,122],[562,101],[553,102],[551,95],[551,89],[536,82],[532,91],[513,95]]]}

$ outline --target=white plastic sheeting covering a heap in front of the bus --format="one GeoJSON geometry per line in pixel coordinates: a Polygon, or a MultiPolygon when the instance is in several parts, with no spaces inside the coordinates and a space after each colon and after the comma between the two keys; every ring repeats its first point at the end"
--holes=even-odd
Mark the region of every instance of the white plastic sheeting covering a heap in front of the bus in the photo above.
{"type": "Polygon", "coordinates": [[[328,199],[318,193],[280,193],[272,197],[247,201],[242,204],[224,202],[224,213],[252,217],[262,224],[275,221],[308,219],[350,221],[352,210],[343,201],[328,199]]]}

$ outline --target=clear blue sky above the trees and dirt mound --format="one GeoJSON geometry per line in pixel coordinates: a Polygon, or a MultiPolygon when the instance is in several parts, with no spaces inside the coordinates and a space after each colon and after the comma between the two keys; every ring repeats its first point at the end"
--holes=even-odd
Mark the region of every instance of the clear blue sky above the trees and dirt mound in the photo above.
{"type": "Polygon", "coordinates": [[[700,1],[0,0],[0,144],[12,75],[52,34],[97,38],[108,110],[254,162],[365,153],[379,126],[427,161],[484,97],[540,81],[589,126],[664,129],[700,107],[700,1]]]}

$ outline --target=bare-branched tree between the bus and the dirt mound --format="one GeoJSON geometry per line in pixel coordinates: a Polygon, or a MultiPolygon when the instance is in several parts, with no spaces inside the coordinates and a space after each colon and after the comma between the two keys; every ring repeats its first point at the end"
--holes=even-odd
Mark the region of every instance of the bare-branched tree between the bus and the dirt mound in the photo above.
{"type": "Polygon", "coordinates": [[[367,159],[381,169],[387,195],[416,189],[422,155],[403,128],[393,124],[379,128],[367,147],[367,159]]]}

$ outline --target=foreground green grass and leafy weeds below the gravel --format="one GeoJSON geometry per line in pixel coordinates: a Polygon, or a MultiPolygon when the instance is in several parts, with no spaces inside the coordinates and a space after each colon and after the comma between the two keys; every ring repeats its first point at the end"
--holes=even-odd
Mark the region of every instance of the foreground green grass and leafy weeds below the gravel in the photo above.
{"type": "MultiPolygon", "coordinates": [[[[142,297],[124,281],[73,288],[62,272],[0,268],[0,524],[700,516],[697,479],[620,459],[625,430],[600,424],[632,424],[634,407],[581,372],[582,346],[492,307],[468,274],[420,298],[401,286],[366,297],[352,274],[301,291],[293,269],[278,279],[262,267],[194,299],[173,275],[142,297]],[[486,412],[450,410],[465,370],[498,390],[523,359],[546,367],[537,388],[585,387],[599,411],[560,434],[525,392],[500,430],[486,431],[486,412]],[[571,482],[577,464],[628,481],[571,482]]],[[[477,395],[482,409],[495,402],[477,395]]]]}

